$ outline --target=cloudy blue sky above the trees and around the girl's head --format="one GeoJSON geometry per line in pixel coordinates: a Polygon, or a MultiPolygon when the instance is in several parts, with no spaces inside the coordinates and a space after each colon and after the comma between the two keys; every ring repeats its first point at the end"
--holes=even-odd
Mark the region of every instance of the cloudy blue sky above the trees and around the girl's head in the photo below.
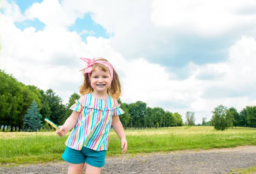
{"type": "Polygon", "coordinates": [[[1,0],[0,69],[66,104],[108,59],[122,102],[212,118],[256,105],[255,0],[1,0]]]}

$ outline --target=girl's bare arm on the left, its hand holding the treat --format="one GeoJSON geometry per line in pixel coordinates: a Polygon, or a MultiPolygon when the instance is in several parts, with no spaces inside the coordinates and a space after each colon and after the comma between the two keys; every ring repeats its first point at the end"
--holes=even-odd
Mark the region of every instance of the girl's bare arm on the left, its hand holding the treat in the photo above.
{"type": "MultiPolygon", "coordinates": [[[[79,98],[78,101],[80,103],[84,103],[84,97],[79,98]]],[[[65,123],[62,126],[59,126],[60,129],[56,130],[56,133],[61,137],[64,136],[68,131],[70,131],[70,129],[76,126],[80,114],[81,112],[73,111],[72,114],[67,118],[65,123]]]]}

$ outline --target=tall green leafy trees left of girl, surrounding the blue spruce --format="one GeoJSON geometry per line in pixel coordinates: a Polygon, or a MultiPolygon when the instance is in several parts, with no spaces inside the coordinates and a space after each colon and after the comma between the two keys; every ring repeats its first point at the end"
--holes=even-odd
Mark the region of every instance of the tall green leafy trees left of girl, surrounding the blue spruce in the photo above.
{"type": "Polygon", "coordinates": [[[0,70],[0,127],[10,127],[11,131],[22,130],[24,116],[35,101],[40,110],[41,122],[48,126],[44,118],[57,124],[64,122],[66,106],[53,90],[41,90],[33,85],[25,85],[12,75],[0,70]]]}

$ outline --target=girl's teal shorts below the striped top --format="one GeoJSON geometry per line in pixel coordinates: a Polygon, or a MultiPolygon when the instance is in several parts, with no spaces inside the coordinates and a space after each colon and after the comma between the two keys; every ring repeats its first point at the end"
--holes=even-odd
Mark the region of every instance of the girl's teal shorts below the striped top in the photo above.
{"type": "Polygon", "coordinates": [[[80,164],[85,162],[94,167],[103,167],[105,164],[106,152],[106,150],[96,151],[86,147],[82,147],[81,150],[75,150],[66,146],[62,158],[68,163],[80,164]]]}

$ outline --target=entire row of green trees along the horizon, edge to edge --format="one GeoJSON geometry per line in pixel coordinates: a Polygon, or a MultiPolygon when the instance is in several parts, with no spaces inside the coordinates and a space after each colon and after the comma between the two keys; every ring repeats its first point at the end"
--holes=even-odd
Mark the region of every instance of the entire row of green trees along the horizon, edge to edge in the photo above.
{"type": "MultiPolygon", "coordinates": [[[[25,85],[0,70],[0,128],[3,131],[6,128],[10,131],[49,129],[44,118],[62,125],[72,112],[70,106],[79,98],[80,95],[73,93],[69,102],[62,104],[62,99],[53,90],[44,91],[33,85],[25,85]]],[[[142,101],[131,104],[120,100],[118,102],[125,111],[119,117],[125,129],[183,126],[182,116],[177,112],[165,111],[160,107],[147,107],[142,101]]],[[[203,120],[198,126],[214,126],[218,130],[236,126],[256,127],[256,106],[247,106],[238,112],[234,107],[228,109],[219,105],[212,113],[211,121],[203,120]]],[[[185,116],[185,125],[195,126],[195,113],[188,111],[185,116]]]]}

